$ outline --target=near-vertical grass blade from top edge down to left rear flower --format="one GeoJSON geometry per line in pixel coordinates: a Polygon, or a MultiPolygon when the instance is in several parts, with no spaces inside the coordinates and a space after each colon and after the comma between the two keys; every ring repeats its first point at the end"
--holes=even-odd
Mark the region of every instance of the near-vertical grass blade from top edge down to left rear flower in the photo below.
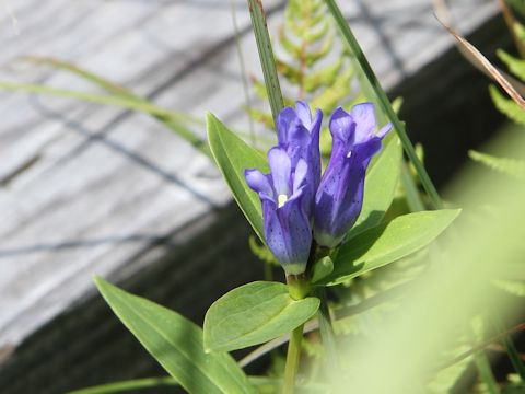
{"type": "Polygon", "coordinates": [[[282,100],[281,86],[276,69],[276,59],[271,48],[270,34],[266,24],[265,10],[262,9],[262,0],[248,0],[249,15],[254,27],[255,40],[259,51],[260,66],[265,77],[266,90],[271,107],[273,123],[277,121],[279,113],[284,107],[282,100]]]}

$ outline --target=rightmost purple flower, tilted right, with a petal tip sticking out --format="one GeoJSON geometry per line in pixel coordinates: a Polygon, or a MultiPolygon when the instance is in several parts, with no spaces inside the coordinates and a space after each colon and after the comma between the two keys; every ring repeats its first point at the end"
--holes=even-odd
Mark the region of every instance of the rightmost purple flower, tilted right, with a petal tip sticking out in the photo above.
{"type": "Polygon", "coordinates": [[[331,115],[331,157],[315,194],[314,237],[322,246],[337,246],[361,212],[366,167],[392,129],[388,124],[374,135],[375,127],[372,103],[331,115]]]}

